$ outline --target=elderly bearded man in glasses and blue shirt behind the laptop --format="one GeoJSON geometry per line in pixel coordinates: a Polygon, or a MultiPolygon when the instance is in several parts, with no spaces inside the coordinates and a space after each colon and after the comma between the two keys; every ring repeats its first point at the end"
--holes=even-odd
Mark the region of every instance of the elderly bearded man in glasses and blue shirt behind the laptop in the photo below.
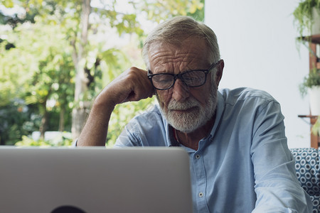
{"type": "Polygon", "coordinates": [[[97,96],[78,146],[105,146],[115,105],[154,94],[154,109],[125,126],[115,146],[181,146],[190,156],[194,212],[311,212],[295,177],[284,116],[270,94],[221,89],[215,33],[192,18],[161,23],[131,67],[97,96]]]}

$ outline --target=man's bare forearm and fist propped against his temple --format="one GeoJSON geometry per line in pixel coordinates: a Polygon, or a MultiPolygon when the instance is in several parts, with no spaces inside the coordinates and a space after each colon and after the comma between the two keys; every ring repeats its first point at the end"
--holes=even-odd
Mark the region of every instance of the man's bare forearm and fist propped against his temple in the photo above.
{"type": "Polygon", "coordinates": [[[95,99],[77,146],[105,146],[110,116],[117,104],[137,102],[154,95],[145,70],[131,67],[113,80],[95,99]]]}

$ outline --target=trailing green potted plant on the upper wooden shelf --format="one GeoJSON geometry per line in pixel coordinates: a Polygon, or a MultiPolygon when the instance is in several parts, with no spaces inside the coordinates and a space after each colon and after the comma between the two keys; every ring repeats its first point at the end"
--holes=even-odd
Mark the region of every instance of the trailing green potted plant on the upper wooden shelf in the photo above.
{"type": "Polygon", "coordinates": [[[293,15],[301,36],[320,33],[320,0],[300,1],[293,15]]]}

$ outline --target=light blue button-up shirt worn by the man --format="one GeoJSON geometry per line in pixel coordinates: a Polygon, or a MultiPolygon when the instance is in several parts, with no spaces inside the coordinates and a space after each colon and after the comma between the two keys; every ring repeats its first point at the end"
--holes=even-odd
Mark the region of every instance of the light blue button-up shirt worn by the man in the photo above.
{"type": "Polygon", "coordinates": [[[115,146],[182,146],[193,212],[312,212],[295,175],[279,103],[266,92],[221,89],[215,124],[198,151],[179,145],[158,106],[125,126],[115,146]]]}

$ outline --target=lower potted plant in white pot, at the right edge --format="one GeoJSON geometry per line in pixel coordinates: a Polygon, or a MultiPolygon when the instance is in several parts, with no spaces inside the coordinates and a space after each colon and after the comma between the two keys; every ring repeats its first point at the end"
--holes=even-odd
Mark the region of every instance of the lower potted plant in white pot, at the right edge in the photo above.
{"type": "Polygon", "coordinates": [[[302,97],[307,93],[310,99],[310,111],[312,115],[320,114],[320,70],[311,70],[304,82],[299,87],[302,97]]]}

